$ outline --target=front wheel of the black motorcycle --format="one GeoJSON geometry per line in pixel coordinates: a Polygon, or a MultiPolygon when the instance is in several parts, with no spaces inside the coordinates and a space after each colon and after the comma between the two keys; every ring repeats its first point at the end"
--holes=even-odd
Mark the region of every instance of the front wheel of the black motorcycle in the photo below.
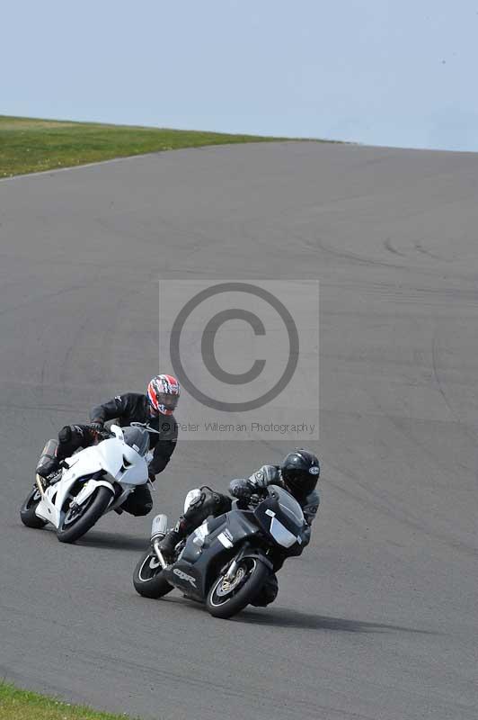
{"type": "Polygon", "coordinates": [[[256,597],[269,575],[269,569],[256,557],[244,557],[231,580],[220,575],[208,592],[206,607],[214,617],[233,617],[256,597]]]}

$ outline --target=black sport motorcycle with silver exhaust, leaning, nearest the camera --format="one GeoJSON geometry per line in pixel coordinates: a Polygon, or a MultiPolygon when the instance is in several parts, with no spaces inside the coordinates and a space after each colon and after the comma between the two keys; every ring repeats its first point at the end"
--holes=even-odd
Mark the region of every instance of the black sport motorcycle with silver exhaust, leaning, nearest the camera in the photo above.
{"type": "Polygon", "coordinates": [[[277,558],[297,553],[307,527],[302,508],[292,495],[270,485],[263,498],[208,518],[176,545],[168,564],[158,544],[167,517],[153,521],[151,545],[134,572],[135,589],[145,598],[161,598],[173,588],[189,599],[205,603],[214,617],[233,617],[258,595],[277,558]],[[294,552],[295,548],[295,552],[294,552]]]}

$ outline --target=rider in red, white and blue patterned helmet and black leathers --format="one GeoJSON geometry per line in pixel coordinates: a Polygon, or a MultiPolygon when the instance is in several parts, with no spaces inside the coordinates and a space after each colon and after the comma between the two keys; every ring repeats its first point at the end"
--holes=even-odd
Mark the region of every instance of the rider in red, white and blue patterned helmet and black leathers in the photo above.
{"type": "MultiPolygon", "coordinates": [[[[46,485],[58,477],[60,463],[73,455],[79,448],[94,445],[104,439],[104,423],[115,420],[124,428],[132,422],[147,423],[161,434],[149,434],[150,447],[154,451],[148,465],[149,479],[154,482],[155,475],[162,473],[169,463],[178,437],[178,428],[173,410],[178,404],[180,386],[173,375],[155,375],[147,386],[147,394],[126,392],[116,395],[110,401],[97,405],[90,412],[90,425],[66,425],[58,433],[58,447],[54,457],[39,464],[37,473],[46,485]]],[[[131,515],[147,515],[153,508],[153,499],[147,485],[138,485],[128,495],[121,509],[131,515]]]]}

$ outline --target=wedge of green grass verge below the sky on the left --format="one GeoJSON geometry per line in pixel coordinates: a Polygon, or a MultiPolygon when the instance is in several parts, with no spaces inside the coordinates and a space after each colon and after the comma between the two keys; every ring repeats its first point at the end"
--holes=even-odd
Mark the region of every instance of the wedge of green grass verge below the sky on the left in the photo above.
{"type": "Polygon", "coordinates": [[[0,178],[161,150],[279,139],[0,115],[0,178]]]}

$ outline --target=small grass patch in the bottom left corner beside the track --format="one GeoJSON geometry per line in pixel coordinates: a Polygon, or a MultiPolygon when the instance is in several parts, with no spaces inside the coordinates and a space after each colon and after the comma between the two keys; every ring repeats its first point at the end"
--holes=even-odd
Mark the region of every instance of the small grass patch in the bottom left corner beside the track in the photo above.
{"type": "Polygon", "coordinates": [[[0,681],[0,720],[128,720],[125,715],[100,713],[90,707],[45,698],[36,692],[0,681]]]}

